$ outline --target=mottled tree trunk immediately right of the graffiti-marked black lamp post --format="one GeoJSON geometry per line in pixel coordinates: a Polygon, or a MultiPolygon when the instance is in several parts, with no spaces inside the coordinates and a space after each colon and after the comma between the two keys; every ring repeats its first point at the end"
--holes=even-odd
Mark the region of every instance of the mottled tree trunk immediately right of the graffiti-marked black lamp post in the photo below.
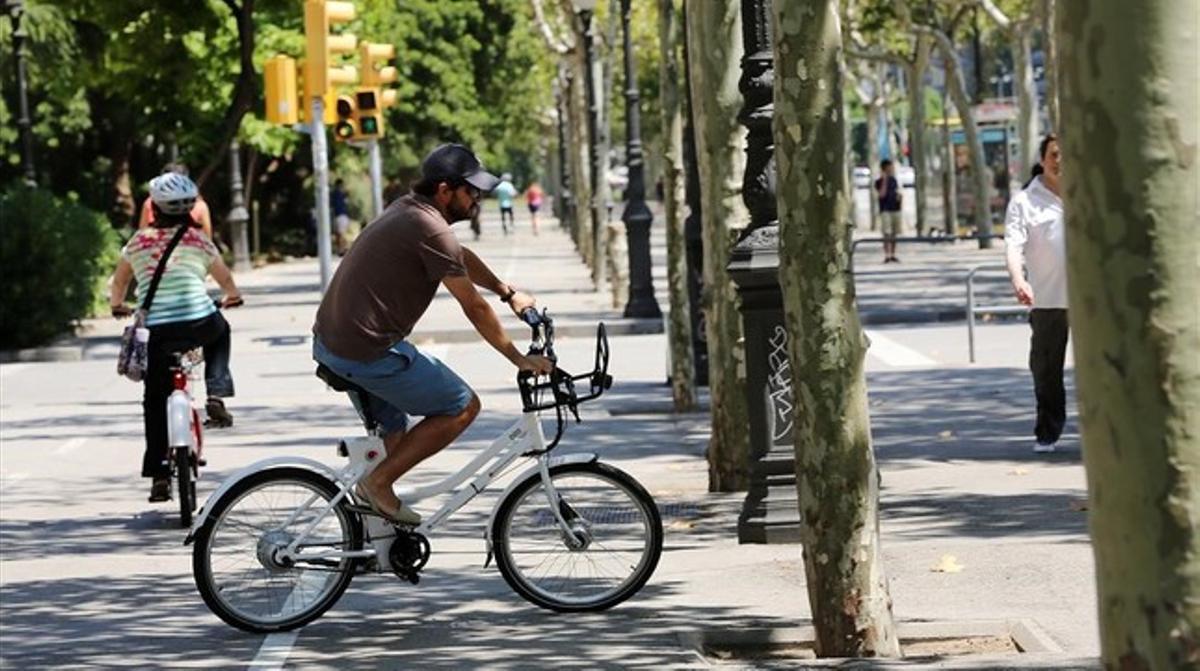
{"type": "Polygon", "coordinates": [[[775,0],[780,282],[796,384],[796,477],[820,657],[898,657],[880,556],[880,475],[850,268],[836,0],[775,0]]]}

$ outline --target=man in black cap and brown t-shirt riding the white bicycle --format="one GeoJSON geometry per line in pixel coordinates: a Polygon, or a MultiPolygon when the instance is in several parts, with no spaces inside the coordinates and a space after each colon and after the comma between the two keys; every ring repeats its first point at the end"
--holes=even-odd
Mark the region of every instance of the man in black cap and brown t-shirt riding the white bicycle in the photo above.
{"type": "Polygon", "coordinates": [[[532,295],[502,282],[450,226],[479,211],[479,199],[499,179],[461,144],[438,146],[421,162],[421,179],[359,235],[317,308],[313,359],[366,389],[384,430],[388,456],[356,495],[379,515],[416,525],[392,485],[462,433],[479,414],[479,396],[438,359],[406,339],[444,284],[479,335],[522,371],[548,373],[553,364],[526,357],[512,343],[482,287],[515,314],[532,295]],[[407,431],[408,415],[425,419],[407,431]]]}

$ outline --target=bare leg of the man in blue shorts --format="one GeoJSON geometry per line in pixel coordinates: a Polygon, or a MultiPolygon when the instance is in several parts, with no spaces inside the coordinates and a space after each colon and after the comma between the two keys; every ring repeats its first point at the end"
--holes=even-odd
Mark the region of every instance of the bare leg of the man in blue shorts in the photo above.
{"type": "Polygon", "coordinates": [[[377,504],[398,505],[392,485],[404,473],[438,454],[470,426],[479,414],[479,396],[472,395],[467,407],[456,415],[427,417],[412,431],[396,431],[384,438],[388,456],[366,478],[362,489],[377,504]]]}

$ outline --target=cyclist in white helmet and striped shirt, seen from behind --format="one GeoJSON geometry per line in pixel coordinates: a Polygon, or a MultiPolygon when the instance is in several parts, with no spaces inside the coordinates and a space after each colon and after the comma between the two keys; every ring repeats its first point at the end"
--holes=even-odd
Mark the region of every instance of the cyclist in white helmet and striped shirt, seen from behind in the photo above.
{"type": "MultiPolygon", "coordinates": [[[[130,281],[137,283],[140,305],[154,277],[155,269],[180,226],[187,227],[172,251],[158,281],[158,290],[146,314],[150,329],[149,370],[144,379],[145,393],[142,412],[145,420],[146,448],[142,475],[150,478],[150,501],[170,498],[167,467],[167,397],[170,395],[172,354],[197,347],[204,348],[205,387],[209,415],[218,407],[224,413],[222,397],[233,396],[229,375],[229,323],[209,298],[204,287],[208,275],[221,286],[222,307],[241,305],[241,294],[233,275],[221,259],[212,241],[196,227],[191,210],[197,188],[186,175],[163,173],[150,180],[154,226],[138,230],[121,250],[121,260],[113,274],[109,298],[114,317],[127,317],[133,310],[125,305],[130,281]]],[[[226,413],[228,414],[228,413],[226,413]]]]}

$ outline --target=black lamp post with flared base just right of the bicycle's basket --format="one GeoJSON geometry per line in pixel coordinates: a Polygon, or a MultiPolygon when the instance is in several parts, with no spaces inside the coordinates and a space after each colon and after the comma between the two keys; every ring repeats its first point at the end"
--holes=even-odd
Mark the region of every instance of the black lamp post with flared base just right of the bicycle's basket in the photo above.
{"type": "Polygon", "coordinates": [[[625,317],[659,319],[662,311],[654,298],[654,277],[650,275],[650,223],[654,215],[646,206],[646,164],[642,161],[642,120],[638,109],[637,67],[634,65],[634,44],[629,31],[630,0],[620,0],[620,28],[625,52],[625,166],[629,184],[625,186],[625,236],[629,240],[629,302],[625,317]]]}

